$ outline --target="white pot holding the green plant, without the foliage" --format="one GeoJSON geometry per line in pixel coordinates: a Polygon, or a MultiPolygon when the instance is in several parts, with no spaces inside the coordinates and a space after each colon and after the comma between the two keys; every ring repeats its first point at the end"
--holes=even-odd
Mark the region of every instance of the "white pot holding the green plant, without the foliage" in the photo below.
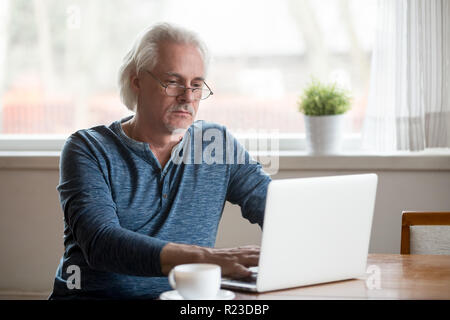
{"type": "Polygon", "coordinates": [[[345,114],[304,116],[306,150],[312,155],[338,154],[342,143],[345,114]]]}

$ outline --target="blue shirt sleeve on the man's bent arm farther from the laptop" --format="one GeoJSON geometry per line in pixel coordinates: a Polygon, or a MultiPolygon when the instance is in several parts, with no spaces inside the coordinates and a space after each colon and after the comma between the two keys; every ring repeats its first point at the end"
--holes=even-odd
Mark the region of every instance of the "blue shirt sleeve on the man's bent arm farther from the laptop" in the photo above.
{"type": "Polygon", "coordinates": [[[167,241],[122,228],[100,162],[82,137],[72,135],[61,153],[58,191],[64,219],[87,264],[97,270],[161,276],[167,241]]]}

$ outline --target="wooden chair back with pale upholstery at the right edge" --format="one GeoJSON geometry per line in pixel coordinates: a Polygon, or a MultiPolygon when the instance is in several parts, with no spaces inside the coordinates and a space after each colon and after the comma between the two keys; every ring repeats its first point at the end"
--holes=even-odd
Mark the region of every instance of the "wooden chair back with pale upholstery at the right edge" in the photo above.
{"type": "Polygon", "coordinates": [[[450,212],[403,211],[400,253],[450,254],[450,212]]]}

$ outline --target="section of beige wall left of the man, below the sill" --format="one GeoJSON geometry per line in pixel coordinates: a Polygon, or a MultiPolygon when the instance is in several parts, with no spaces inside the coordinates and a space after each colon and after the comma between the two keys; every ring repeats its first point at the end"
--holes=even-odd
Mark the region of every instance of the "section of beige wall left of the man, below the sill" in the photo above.
{"type": "Polygon", "coordinates": [[[63,253],[57,170],[0,170],[0,290],[51,291],[63,253]]]}

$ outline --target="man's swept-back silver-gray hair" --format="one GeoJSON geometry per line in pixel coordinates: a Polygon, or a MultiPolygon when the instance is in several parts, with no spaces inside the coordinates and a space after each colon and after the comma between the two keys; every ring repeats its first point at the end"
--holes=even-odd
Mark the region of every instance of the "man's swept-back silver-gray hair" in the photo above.
{"type": "Polygon", "coordinates": [[[131,89],[131,76],[143,68],[153,69],[158,62],[158,45],[161,42],[189,44],[197,47],[203,58],[205,73],[208,69],[208,49],[196,33],[169,23],[160,23],[145,29],[137,37],[119,70],[119,90],[122,102],[136,111],[137,95],[131,89]]]}

